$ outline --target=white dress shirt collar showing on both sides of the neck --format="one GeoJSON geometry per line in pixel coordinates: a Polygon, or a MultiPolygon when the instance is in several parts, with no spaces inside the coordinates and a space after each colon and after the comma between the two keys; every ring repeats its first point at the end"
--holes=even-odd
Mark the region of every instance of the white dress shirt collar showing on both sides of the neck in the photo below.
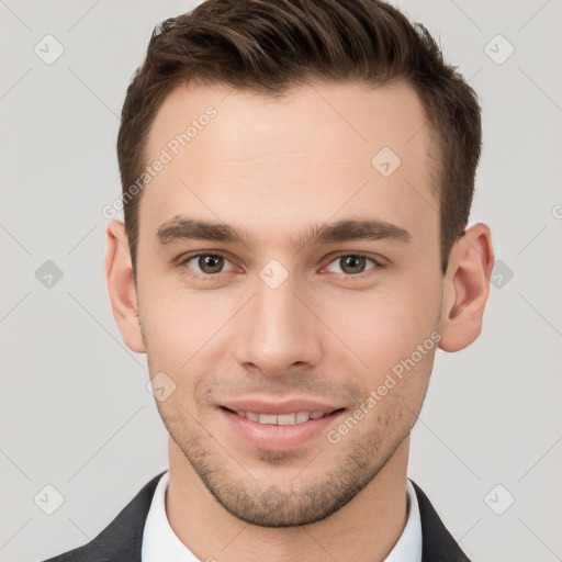
{"type": "MultiPolygon", "coordinates": [[[[142,562],[201,562],[170,527],[166,515],[167,486],[168,471],[158,482],[150,504],[143,533],[142,562]]],[[[416,491],[409,480],[406,480],[406,492],[408,505],[406,527],[384,562],[422,562],[422,520],[416,491]]]]}

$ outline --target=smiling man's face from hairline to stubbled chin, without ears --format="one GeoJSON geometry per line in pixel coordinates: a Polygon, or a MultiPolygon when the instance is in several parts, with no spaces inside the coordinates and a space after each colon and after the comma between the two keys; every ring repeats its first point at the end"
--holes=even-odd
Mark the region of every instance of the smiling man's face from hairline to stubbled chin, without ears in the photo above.
{"type": "Polygon", "coordinates": [[[146,161],[167,161],[142,194],[137,284],[150,375],[176,384],[157,404],[182,470],[240,519],[327,517],[409,435],[442,299],[425,123],[405,83],[181,87],[155,119],[146,161]],[[223,227],[201,239],[181,220],[223,227]],[[304,243],[346,221],[385,226],[304,243]]]}

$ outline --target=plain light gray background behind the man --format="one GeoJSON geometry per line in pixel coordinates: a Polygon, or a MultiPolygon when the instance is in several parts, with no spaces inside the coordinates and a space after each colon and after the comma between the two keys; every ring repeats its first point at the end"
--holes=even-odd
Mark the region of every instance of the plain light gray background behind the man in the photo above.
{"type": "MultiPolygon", "coordinates": [[[[119,115],[150,32],[193,5],[0,0],[2,561],[86,542],[167,467],[146,358],[110,308],[101,209],[120,193],[119,115]],[[34,52],[47,34],[65,49],[52,64],[34,52]],[[63,272],[50,288],[47,260],[63,272]],[[45,485],[64,496],[53,515],[34,501],[45,485]]],[[[482,336],[438,351],[409,476],[475,561],[562,560],[562,3],[401,5],[481,97],[471,222],[491,226],[497,260],[482,336]],[[497,34],[515,48],[502,64],[497,34]]]]}

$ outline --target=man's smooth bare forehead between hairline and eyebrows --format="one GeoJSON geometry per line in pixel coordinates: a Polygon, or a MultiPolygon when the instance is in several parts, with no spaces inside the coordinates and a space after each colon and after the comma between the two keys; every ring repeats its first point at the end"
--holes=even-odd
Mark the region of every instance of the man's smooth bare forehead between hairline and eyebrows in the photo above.
{"type": "Polygon", "coordinates": [[[281,98],[180,86],[156,114],[145,158],[164,165],[143,190],[140,237],[181,214],[277,241],[347,215],[437,237],[427,115],[405,82],[311,82],[281,98]]]}

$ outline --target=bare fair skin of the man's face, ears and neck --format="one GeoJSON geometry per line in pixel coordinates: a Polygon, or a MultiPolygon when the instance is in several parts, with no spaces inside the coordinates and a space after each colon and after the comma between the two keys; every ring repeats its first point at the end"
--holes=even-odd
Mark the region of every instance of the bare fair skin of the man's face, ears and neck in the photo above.
{"type": "Polygon", "coordinates": [[[443,278],[427,117],[405,82],[311,82],[281,101],[181,86],[156,115],[147,161],[209,105],[216,117],[144,188],[137,286],[123,223],[106,228],[123,339],[147,353],[150,376],[176,384],[156,402],[170,434],[168,519],[201,560],[382,561],[406,522],[409,432],[437,345],[338,443],[323,431],[288,451],[256,447],[218,406],[315,398],[347,418],[432,333],[445,351],[465,348],[488,296],[490,229],[467,231],[443,278]],[[387,178],[371,165],[384,146],[402,160],[387,178]],[[252,239],[159,246],[158,227],[177,215],[252,239]],[[297,233],[342,218],[385,221],[412,239],[293,248],[297,233]],[[214,278],[194,277],[209,271],[188,261],[198,250],[226,255],[214,278]],[[339,258],[353,252],[385,265],[366,260],[349,274],[339,258]],[[288,272],[274,290],[259,277],[272,259],[288,272]]]}

